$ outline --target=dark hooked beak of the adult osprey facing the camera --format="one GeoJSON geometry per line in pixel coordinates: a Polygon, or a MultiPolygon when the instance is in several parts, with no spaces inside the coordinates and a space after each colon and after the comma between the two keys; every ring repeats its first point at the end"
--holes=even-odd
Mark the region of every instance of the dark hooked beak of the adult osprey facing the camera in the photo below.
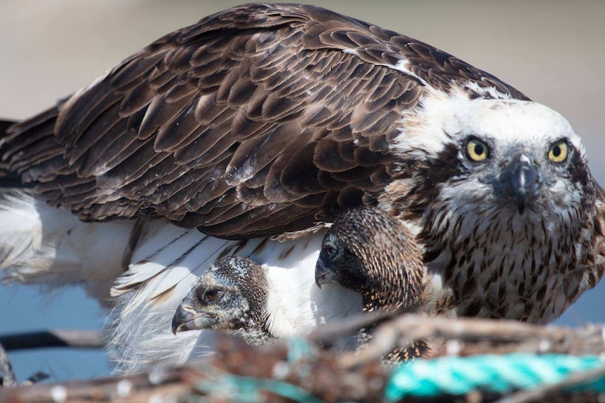
{"type": "Polygon", "coordinates": [[[536,196],[541,184],[540,169],[524,153],[518,153],[503,169],[497,188],[501,194],[512,196],[517,203],[519,214],[523,214],[526,205],[536,196]]]}

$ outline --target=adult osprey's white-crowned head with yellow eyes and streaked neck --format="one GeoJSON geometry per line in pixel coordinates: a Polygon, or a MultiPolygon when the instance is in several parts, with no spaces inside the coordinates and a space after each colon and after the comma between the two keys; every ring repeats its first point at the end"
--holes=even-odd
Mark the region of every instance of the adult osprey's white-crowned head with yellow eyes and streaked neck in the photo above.
{"type": "Polygon", "coordinates": [[[456,97],[409,113],[394,146],[402,169],[380,205],[425,247],[428,310],[547,322],[594,287],[603,196],[562,116],[456,97]]]}

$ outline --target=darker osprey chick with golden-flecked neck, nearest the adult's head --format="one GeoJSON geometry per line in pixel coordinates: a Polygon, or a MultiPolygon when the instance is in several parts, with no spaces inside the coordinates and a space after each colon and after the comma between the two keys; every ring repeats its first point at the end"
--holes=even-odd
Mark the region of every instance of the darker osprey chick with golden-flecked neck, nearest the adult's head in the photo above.
{"type": "MultiPolygon", "coordinates": [[[[411,233],[378,208],[340,214],[326,233],[315,268],[319,287],[340,284],[361,294],[365,311],[382,313],[419,308],[424,274],[422,254],[411,233]]],[[[388,358],[409,360],[429,353],[428,344],[417,341],[388,358]]]]}

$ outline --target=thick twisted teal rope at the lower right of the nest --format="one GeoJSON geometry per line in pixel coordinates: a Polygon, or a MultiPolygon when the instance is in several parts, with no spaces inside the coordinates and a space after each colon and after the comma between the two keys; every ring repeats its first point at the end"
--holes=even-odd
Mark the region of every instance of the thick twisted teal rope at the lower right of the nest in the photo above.
{"type": "MultiPolygon", "coordinates": [[[[475,355],[415,360],[396,369],[385,390],[387,400],[406,396],[464,395],[473,390],[505,393],[563,381],[577,371],[605,367],[594,355],[475,355]]],[[[576,388],[574,388],[576,389],[576,388]]],[[[605,378],[587,389],[605,392],[605,378]]]]}

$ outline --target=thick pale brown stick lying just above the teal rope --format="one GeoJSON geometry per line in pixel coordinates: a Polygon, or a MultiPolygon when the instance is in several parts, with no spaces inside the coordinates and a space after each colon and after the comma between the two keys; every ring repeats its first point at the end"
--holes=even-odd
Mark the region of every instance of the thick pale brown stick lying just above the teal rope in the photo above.
{"type": "Polygon", "coordinates": [[[380,325],[366,348],[343,356],[345,367],[354,367],[383,357],[394,346],[427,339],[435,345],[435,356],[485,353],[561,353],[571,355],[605,352],[603,328],[587,325],[579,329],[537,326],[510,320],[426,317],[401,315],[380,325]]]}

